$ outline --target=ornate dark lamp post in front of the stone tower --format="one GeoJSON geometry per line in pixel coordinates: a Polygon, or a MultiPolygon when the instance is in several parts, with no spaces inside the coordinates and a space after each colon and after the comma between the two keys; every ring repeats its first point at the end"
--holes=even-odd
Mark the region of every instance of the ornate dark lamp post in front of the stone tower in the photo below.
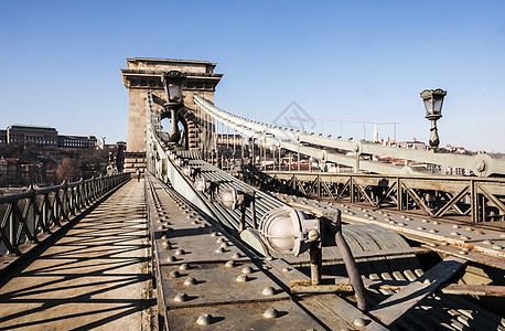
{"type": "Polygon", "coordinates": [[[168,100],[163,106],[170,110],[170,142],[178,142],[181,139],[178,128],[178,110],[184,106],[182,84],[185,79],[186,75],[179,71],[171,71],[161,75],[161,82],[163,83],[168,100]]]}

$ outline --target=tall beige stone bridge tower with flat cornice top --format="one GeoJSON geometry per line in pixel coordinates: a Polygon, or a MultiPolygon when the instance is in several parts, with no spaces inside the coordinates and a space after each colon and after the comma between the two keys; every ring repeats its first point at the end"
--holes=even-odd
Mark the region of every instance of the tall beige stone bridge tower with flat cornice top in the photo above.
{"type": "MultiPolygon", "coordinates": [[[[135,171],[146,167],[146,95],[152,93],[154,104],[161,117],[170,117],[162,107],[166,102],[161,76],[163,72],[180,71],[186,75],[183,85],[184,107],[179,111],[179,119],[186,132],[185,145],[189,149],[198,148],[196,118],[208,120],[205,114],[196,109],[193,95],[200,94],[214,102],[214,92],[223,74],[215,74],[215,63],[207,61],[169,60],[169,58],[127,58],[128,68],[121,70],[122,82],[128,88],[128,142],[125,153],[125,171],[135,171]]],[[[213,126],[204,126],[213,127],[213,126]]]]}

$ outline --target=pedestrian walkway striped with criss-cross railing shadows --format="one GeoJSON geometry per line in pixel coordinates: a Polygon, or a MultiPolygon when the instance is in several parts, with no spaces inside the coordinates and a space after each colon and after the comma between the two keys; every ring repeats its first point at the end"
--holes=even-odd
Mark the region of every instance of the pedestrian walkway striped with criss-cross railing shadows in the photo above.
{"type": "Polygon", "coordinates": [[[149,329],[143,180],[131,180],[0,289],[0,330],[149,329]]]}

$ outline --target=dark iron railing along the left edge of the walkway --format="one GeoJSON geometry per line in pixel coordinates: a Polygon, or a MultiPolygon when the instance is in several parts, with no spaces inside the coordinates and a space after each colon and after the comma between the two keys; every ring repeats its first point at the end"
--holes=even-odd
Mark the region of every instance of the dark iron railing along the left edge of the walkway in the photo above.
{"type": "Polygon", "coordinates": [[[21,255],[22,244],[37,244],[62,226],[62,221],[76,216],[129,178],[120,173],[1,196],[0,256],[21,255]]]}

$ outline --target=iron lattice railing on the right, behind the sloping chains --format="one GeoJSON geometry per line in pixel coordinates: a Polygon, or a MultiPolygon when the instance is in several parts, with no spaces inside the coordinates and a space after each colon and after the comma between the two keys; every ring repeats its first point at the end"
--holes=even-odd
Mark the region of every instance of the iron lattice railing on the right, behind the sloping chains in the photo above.
{"type": "Polygon", "coordinates": [[[419,210],[432,217],[453,215],[474,223],[505,220],[503,178],[250,170],[233,174],[264,190],[366,203],[374,209],[419,210]]]}

